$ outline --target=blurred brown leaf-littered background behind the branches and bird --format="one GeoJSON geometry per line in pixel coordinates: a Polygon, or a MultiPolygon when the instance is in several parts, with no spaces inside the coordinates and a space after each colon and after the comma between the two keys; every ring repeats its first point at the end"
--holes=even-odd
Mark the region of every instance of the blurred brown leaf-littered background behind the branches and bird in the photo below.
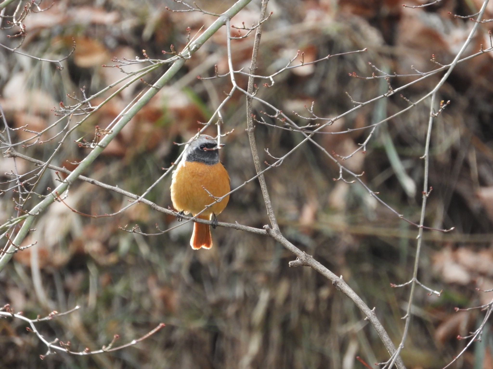
{"type": "MultiPolygon", "coordinates": [[[[201,0],[205,10],[221,13],[231,0],[201,0]]],[[[420,2],[407,2],[419,5],[420,2]]],[[[297,50],[305,62],[328,54],[367,48],[366,53],[331,58],[328,61],[283,72],[273,87],[256,81],[258,95],[284,112],[308,116],[304,106],[315,101],[320,117],[335,117],[351,109],[355,101],[366,101],[388,91],[384,79],[364,80],[379,74],[372,64],[388,73],[412,74],[414,66],[428,71],[453,60],[473,23],[454,18],[479,10],[481,0],[446,0],[425,8],[404,8],[402,0],[271,0],[272,17],[265,23],[257,74],[269,75],[286,65],[297,50]],[[449,14],[452,13],[452,15],[449,14]]],[[[43,5],[43,4],[42,4],[43,5]]],[[[49,5],[48,3],[44,5],[49,5]]],[[[7,8],[11,14],[16,2],[7,8]]],[[[93,94],[123,75],[111,58],[162,58],[170,45],[186,44],[187,27],[194,35],[209,26],[214,17],[184,9],[171,0],[56,1],[45,12],[26,20],[27,36],[22,50],[31,55],[59,59],[73,55],[58,71],[52,63],[38,62],[0,50],[0,104],[13,127],[29,124],[40,130],[57,117],[51,109],[60,101],[73,103],[66,95],[81,97],[80,88],[93,94]]],[[[232,25],[250,26],[258,21],[260,1],[253,0],[232,25]]],[[[485,19],[493,18],[493,3],[485,19]]],[[[479,26],[464,56],[488,48],[493,23],[479,26]]],[[[206,122],[218,102],[229,92],[229,79],[199,80],[228,71],[224,28],[187,61],[173,83],[162,89],[123,129],[92,165],[87,176],[141,194],[175,161],[184,142],[206,122]]],[[[7,39],[13,30],[1,30],[0,42],[10,47],[18,39],[7,39]]],[[[233,42],[235,69],[250,63],[252,36],[233,42]]],[[[493,287],[493,54],[481,55],[457,65],[437,95],[451,104],[435,120],[430,147],[429,184],[425,224],[455,227],[443,234],[424,232],[419,279],[442,294],[428,296],[417,289],[415,314],[402,357],[408,368],[442,368],[465,346],[467,335],[479,326],[484,312],[455,312],[454,307],[487,304],[492,293],[476,288],[493,287]]],[[[295,62],[297,63],[297,62],[295,62]]],[[[127,71],[137,66],[126,67],[127,71]]],[[[152,83],[163,70],[146,76],[152,83]]],[[[416,101],[429,92],[441,74],[406,89],[403,95],[416,101]]],[[[390,79],[397,88],[416,77],[390,79]]],[[[237,76],[246,88],[246,78],[237,76]]],[[[127,88],[73,133],[71,139],[93,138],[95,125],[106,127],[142,90],[143,83],[127,88]]],[[[97,100],[101,102],[109,92],[97,100]]],[[[429,100],[378,127],[366,147],[342,162],[353,172],[362,172],[364,182],[400,214],[419,222],[423,155],[429,100]]],[[[377,123],[408,106],[398,93],[356,110],[326,132],[377,123]]],[[[266,110],[254,105],[255,113],[266,110]]],[[[267,110],[267,112],[269,112],[267,110]]],[[[272,111],[269,112],[272,114],[272,111]]],[[[232,187],[253,177],[255,170],[246,136],[245,96],[235,93],[223,109],[224,131],[235,129],[224,142],[222,161],[232,187]]],[[[309,122],[291,114],[300,125],[309,122]]],[[[278,124],[274,120],[268,123],[278,124]]],[[[3,128],[2,128],[3,129],[3,128]]],[[[207,131],[215,135],[215,127],[207,131]]],[[[342,135],[319,134],[315,138],[329,153],[351,154],[365,140],[368,130],[342,135]]],[[[31,137],[22,129],[14,141],[31,137]]],[[[282,156],[302,140],[302,135],[257,125],[259,152],[264,148],[282,156]]],[[[47,139],[50,136],[47,135],[47,139]]],[[[69,162],[89,153],[69,140],[53,164],[73,169],[69,162]]],[[[23,154],[46,160],[56,142],[18,148],[23,154]]],[[[261,161],[272,162],[267,155],[261,161]]],[[[17,159],[19,172],[34,169],[17,159]]],[[[3,173],[13,170],[13,160],[0,160],[3,173]]],[[[267,184],[282,232],[296,246],[342,275],[377,316],[397,345],[403,333],[409,289],[390,287],[412,276],[417,229],[389,212],[359,184],[334,182],[338,168],[315,146],[306,144],[290,155],[282,166],[266,174],[267,184]]],[[[53,172],[46,173],[38,190],[56,185],[53,172]]],[[[348,179],[349,180],[349,179],[348,179]]],[[[171,176],[147,198],[171,206],[171,176]]],[[[1,184],[1,189],[6,184],[1,184]]],[[[33,204],[37,199],[33,199],[33,204]]],[[[128,199],[91,184],[77,182],[66,200],[70,207],[87,214],[116,212],[128,199]]],[[[14,215],[12,192],[1,196],[0,220],[14,215]]],[[[220,221],[253,227],[268,223],[257,182],[235,192],[220,221]]],[[[114,334],[121,343],[141,337],[160,322],[166,327],[154,336],[111,354],[73,357],[58,354],[40,362],[46,347],[26,324],[0,320],[0,367],[2,368],[363,368],[360,356],[372,368],[388,354],[375,330],[351,300],[309,268],[289,268],[294,257],[267,237],[220,228],[212,231],[211,250],[193,251],[189,246],[192,225],[157,237],[144,237],[120,230],[139,224],[155,233],[177,224],[176,218],[134,205],[121,215],[89,218],[55,203],[40,216],[25,244],[37,245],[14,255],[0,273],[0,305],[35,318],[51,310],[80,310],[39,324],[46,338],[72,342],[74,350],[101,348],[114,334]]],[[[474,343],[454,368],[493,368],[491,323],[481,342],[474,343]]]]}

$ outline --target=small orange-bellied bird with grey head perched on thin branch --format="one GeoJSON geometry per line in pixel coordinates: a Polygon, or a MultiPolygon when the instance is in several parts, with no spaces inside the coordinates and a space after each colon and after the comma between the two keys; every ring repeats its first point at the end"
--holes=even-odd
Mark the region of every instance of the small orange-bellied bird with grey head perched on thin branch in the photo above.
{"type": "MultiPolygon", "coordinates": [[[[223,146],[218,146],[213,137],[205,134],[185,146],[171,181],[171,200],[179,212],[178,221],[181,221],[180,215],[192,213],[195,216],[205,209],[198,218],[213,219],[212,228],[217,225],[217,215],[228,204],[229,195],[212,203],[230,192],[228,172],[219,160],[219,148],[223,146]],[[211,207],[206,208],[210,204],[211,207]]],[[[195,250],[212,247],[209,224],[194,222],[190,246],[195,250]]]]}

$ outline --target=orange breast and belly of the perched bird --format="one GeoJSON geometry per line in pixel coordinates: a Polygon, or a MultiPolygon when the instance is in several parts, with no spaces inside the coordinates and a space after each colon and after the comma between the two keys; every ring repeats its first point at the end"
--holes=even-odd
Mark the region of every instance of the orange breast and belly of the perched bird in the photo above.
{"type": "MultiPolygon", "coordinates": [[[[171,200],[175,209],[196,215],[214,202],[202,186],[216,197],[230,191],[228,172],[222,163],[207,165],[198,161],[181,161],[173,172],[171,183],[171,200]]],[[[229,195],[206,209],[200,217],[211,219],[212,213],[219,215],[228,201],[229,195]]]]}

